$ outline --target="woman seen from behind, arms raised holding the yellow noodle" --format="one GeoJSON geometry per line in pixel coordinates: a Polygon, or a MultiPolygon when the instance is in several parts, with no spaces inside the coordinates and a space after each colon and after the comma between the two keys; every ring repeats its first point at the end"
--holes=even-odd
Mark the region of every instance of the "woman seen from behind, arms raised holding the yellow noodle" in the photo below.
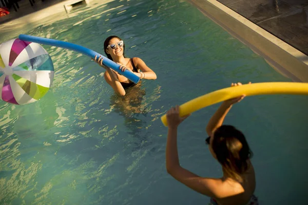
{"type": "MultiPolygon", "coordinates": [[[[241,85],[241,83],[232,84],[232,86],[241,85]]],[[[222,166],[223,176],[221,178],[200,177],[180,166],[177,150],[177,128],[188,115],[180,117],[179,106],[171,108],[167,112],[167,172],[187,187],[209,196],[211,198],[209,204],[258,204],[258,199],[254,195],[255,171],[249,160],[252,157],[252,151],[241,131],[233,126],[222,125],[233,104],[243,98],[244,95],[224,101],[210,118],[206,127],[209,137],[205,141],[210,153],[222,166]]]]}

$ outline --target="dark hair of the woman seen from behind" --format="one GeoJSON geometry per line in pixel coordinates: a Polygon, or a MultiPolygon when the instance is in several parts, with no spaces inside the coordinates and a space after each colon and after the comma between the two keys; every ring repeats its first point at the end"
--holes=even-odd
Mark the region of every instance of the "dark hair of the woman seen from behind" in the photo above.
{"type": "Polygon", "coordinates": [[[253,156],[244,134],[233,126],[223,125],[214,132],[213,137],[211,147],[224,171],[242,182],[240,174],[247,171],[247,159],[253,156]]]}

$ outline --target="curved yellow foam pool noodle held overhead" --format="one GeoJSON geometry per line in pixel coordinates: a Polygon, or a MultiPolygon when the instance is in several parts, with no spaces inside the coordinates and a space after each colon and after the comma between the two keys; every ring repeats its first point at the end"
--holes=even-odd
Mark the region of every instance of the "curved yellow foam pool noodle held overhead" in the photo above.
{"type": "MultiPolygon", "coordinates": [[[[221,101],[239,97],[245,94],[263,95],[263,94],[293,94],[308,95],[308,83],[290,83],[290,82],[271,82],[271,83],[253,83],[242,86],[228,87],[207,93],[195,99],[189,100],[180,106],[180,116],[183,117],[189,113],[195,112],[207,106],[219,103],[221,101]]],[[[167,117],[164,114],[161,120],[167,126],[167,117]]]]}

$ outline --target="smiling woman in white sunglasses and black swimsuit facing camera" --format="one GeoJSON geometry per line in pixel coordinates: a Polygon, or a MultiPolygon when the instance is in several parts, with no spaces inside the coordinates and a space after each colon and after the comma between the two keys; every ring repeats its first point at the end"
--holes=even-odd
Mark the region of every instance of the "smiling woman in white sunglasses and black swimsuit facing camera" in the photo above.
{"type": "MultiPolygon", "coordinates": [[[[139,57],[127,58],[125,54],[125,44],[123,40],[115,35],[109,36],[104,42],[104,51],[110,60],[121,65],[120,69],[122,71],[130,70],[141,79],[156,79],[156,74],[153,72],[144,61],[139,57]],[[142,72],[140,72],[142,71],[142,72]]],[[[123,75],[119,74],[105,65],[103,65],[103,57],[97,56],[93,59],[101,67],[105,68],[107,72],[104,74],[106,82],[113,88],[113,90],[120,96],[126,94],[125,89],[136,85],[123,75]]]]}

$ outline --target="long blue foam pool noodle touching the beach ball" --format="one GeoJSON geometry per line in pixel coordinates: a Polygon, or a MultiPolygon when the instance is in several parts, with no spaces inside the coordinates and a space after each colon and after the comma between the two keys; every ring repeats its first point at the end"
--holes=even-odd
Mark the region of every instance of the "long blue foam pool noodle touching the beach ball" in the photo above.
{"type": "MultiPolygon", "coordinates": [[[[37,43],[37,44],[45,44],[45,45],[49,45],[49,46],[55,46],[55,47],[60,47],[60,48],[65,48],[65,49],[69,49],[69,50],[73,50],[82,54],[85,54],[91,58],[95,58],[95,55],[97,56],[97,59],[100,56],[103,56],[95,51],[92,51],[90,49],[87,49],[85,47],[76,45],[76,44],[72,44],[72,43],[68,43],[68,42],[62,42],[61,40],[54,40],[54,39],[50,39],[50,38],[42,38],[42,37],[37,37],[37,36],[31,36],[31,35],[25,35],[25,34],[20,34],[18,36],[18,38],[20,40],[24,40],[27,42],[33,42],[33,43],[37,43]]],[[[114,63],[112,60],[108,59],[107,57],[103,56],[103,64],[115,71],[117,71],[118,73],[120,73],[121,75],[127,77],[128,79],[130,79],[131,81],[133,81],[133,83],[138,83],[140,78],[133,74],[131,71],[129,70],[125,70],[124,72],[122,70],[120,70],[120,65],[114,63]]]]}

